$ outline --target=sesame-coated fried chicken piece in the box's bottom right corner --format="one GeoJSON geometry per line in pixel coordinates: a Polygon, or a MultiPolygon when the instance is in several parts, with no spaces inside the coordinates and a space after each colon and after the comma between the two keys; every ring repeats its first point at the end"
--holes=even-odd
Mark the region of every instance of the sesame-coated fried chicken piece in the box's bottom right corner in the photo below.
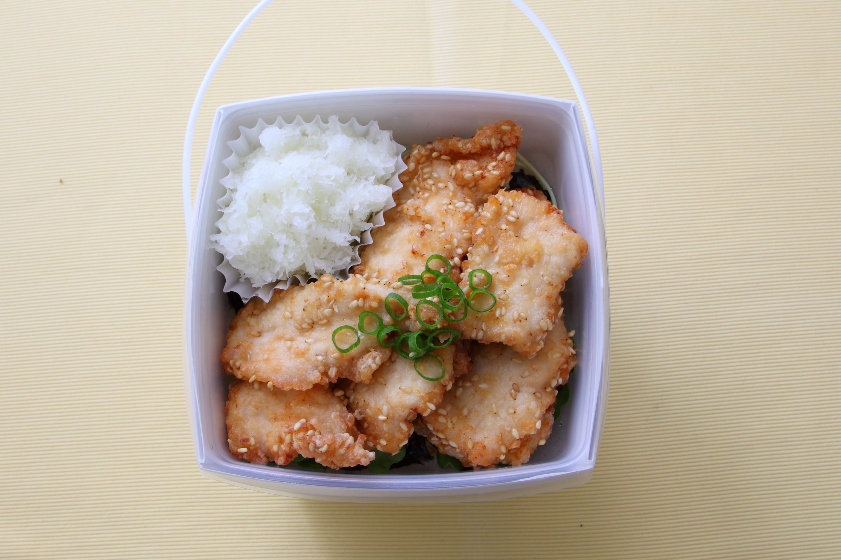
{"type": "Polygon", "coordinates": [[[528,359],[504,344],[473,344],[473,370],[456,379],[440,406],[415,421],[441,453],[466,466],[522,464],[552,430],[558,384],[566,383],[575,351],[563,321],[528,359]]]}

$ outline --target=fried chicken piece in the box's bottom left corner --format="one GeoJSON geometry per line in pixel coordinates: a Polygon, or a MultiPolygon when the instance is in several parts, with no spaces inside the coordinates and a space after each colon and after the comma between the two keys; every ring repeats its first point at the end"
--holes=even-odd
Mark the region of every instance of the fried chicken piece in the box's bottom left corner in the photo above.
{"type": "Polygon", "coordinates": [[[285,465],[299,454],[330,468],[367,465],[374,454],[364,447],[353,415],[323,386],[309,390],[269,389],[262,383],[235,383],[225,404],[228,447],[251,463],[285,465]]]}

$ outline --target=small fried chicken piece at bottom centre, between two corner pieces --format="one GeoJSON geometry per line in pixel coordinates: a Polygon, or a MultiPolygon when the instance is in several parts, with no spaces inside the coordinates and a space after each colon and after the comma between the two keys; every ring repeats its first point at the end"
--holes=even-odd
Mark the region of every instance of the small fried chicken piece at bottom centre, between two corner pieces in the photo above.
{"type": "Polygon", "coordinates": [[[426,415],[441,404],[444,391],[452,386],[455,366],[468,369],[469,357],[461,343],[433,352],[444,366],[440,381],[423,379],[415,371],[415,363],[397,353],[381,365],[368,385],[344,382],[346,406],[359,421],[359,431],[368,437],[366,445],[386,453],[399,452],[413,432],[412,421],[426,415]],[[458,359],[455,359],[459,354],[458,359]],[[430,407],[430,405],[432,407],[430,407]]]}

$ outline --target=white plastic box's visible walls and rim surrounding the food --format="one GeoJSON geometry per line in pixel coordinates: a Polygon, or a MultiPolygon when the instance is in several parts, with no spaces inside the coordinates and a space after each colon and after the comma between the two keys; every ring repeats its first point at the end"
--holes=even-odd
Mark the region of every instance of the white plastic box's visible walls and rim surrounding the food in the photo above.
{"type": "MultiPolygon", "coordinates": [[[[204,160],[191,231],[186,293],[188,400],[198,466],[204,475],[243,488],[312,500],[434,503],[536,494],[584,484],[595,464],[607,395],[609,315],[605,228],[590,172],[584,130],[574,102],[521,93],[396,87],[310,92],[219,107],[204,160]],[[225,398],[229,378],[220,353],[234,312],[216,270],[222,257],[209,243],[225,194],[226,144],[258,118],[291,122],[338,115],[376,120],[405,146],[438,136],[472,136],[480,125],[510,118],[523,128],[521,152],[553,185],[563,217],[590,244],[564,291],[567,328],[575,329],[579,364],[569,379],[569,404],[546,445],[520,467],[454,472],[436,464],[388,474],[314,472],[251,464],[228,450],[225,398]]],[[[292,463],[294,465],[294,463],[292,463]]]]}

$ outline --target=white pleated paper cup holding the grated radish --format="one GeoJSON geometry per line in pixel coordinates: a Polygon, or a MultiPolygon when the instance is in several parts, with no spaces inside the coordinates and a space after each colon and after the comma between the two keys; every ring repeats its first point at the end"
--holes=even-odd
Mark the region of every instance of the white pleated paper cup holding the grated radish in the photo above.
{"type": "MultiPolygon", "coordinates": [[[[329,118],[328,118],[329,121],[329,118]]],[[[294,126],[301,126],[303,124],[316,124],[322,130],[327,130],[329,127],[328,123],[325,123],[321,120],[320,115],[316,115],[315,118],[310,122],[306,123],[303,118],[300,116],[295,118],[292,123],[287,123],[283,120],[283,118],[278,117],[274,123],[266,123],[263,119],[259,119],[257,124],[251,128],[246,128],[241,126],[240,127],[240,136],[235,140],[230,140],[226,144],[230,147],[231,151],[233,152],[222,160],[222,164],[225,165],[225,168],[228,170],[228,175],[225,175],[223,179],[220,180],[220,183],[225,186],[225,196],[222,196],[219,200],[217,200],[217,204],[220,208],[225,208],[231,201],[232,198],[232,189],[230,188],[230,183],[232,181],[233,175],[235,174],[235,170],[238,169],[241,163],[246,160],[246,158],[257,148],[260,147],[260,134],[266,128],[275,126],[278,128],[284,127],[294,127],[294,126]]],[[[362,137],[368,134],[371,127],[377,127],[377,121],[370,121],[368,124],[360,124],[357,123],[356,118],[351,118],[346,123],[341,123],[342,127],[350,127],[352,128],[352,132],[357,137],[362,137]]],[[[390,131],[386,131],[389,132],[390,131]]],[[[385,182],[385,185],[391,187],[392,196],[389,196],[389,199],[385,202],[385,206],[379,212],[376,212],[372,217],[369,218],[368,223],[371,224],[371,227],[362,231],[358,234],[359,243],[353,247],[353,252],[351,255],[350,260],[343,264],[337,270],[324,270],[321,271],[317,275],[309,275],[309,273],[301,272],[299,274],[291,275],[291,276],[282,276],[275,282],[271,282],[264,285],[253,285],[251,280],[243,279],[241,277],[241,273],[239,270],[235,269],[235,267],[230,264],[227,258],[223,258],[222,263],[216,267],[216,270],[219,270],[222,275],[225,276],[225,287],[223,290],[225,292],[235,292],[238,296],[240,296],[243,300],[249,300],[253,296],[260,297],[263,301],[268,301],[269,298],[272,296],[273,290],[286,290],[290,285],[295,284],[306,284],[307,281],[313,278],[318,278],[322,274],[331,274],[336,278],[341,280],[347,280],[348,275],[350,275],[350,270],[353,266],[362,262],[362,259],[359,258],[359,248],[364,245],[369,245],[373,243],[373,239],[371,238],[371,231],[374,228],[379,228],[385,223],[383,218],[383,212],[389,210],[390,208],[394,208],[394,192],[396,192],[399,188],[403,185],[400,183],[399,175],[403,173],[407,168],[405,163],[403,162],[403,158],[400,157],[401,154],[405,151],[405,147],[397,144],[392,139],[392,143],[394,144],[394,148],[396,153],[398,154],[397,162],[395,164],[394,173],[389,177],[389,180],[385,182]]],[[[219,233],[219,228],[216,228],[216,233],[219,233]]],[[[223,255],[224,257],[224,255],[223,255]]]]}

